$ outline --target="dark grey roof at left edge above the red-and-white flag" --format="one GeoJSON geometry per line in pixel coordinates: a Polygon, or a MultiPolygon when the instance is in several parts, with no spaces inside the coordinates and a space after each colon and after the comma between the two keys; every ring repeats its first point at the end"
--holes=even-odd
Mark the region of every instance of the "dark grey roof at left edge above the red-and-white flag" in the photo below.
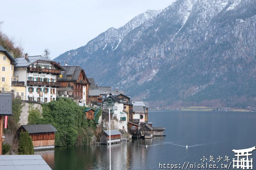
{"type": "Polygon", "coordinates": [[[12,94],[0,94],[0,115],[12,116],[12,94]]]}

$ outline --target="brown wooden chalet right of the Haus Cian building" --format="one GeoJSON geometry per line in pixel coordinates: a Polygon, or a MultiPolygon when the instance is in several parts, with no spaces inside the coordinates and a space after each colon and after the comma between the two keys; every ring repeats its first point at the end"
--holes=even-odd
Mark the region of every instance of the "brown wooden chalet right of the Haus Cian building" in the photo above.
{"type": "Polygon", "coordinates": [[[60,82],[60,87],[57,88],[59,96],[83,100],[87,105],[90,83],[84,69],[80,66],[68,66],[68,63],[62,67],[64,71],[61,71],[57,79],[60,82]]]}

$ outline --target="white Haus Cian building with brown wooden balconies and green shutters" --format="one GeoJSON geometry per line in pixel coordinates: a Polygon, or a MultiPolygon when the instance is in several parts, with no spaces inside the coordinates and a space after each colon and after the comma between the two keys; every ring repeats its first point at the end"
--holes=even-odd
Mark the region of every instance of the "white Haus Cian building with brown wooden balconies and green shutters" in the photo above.
{"type": "Polygon", "coordinates": [[[44,56],[15,58],[14,75],[17,81],[24,82],[25,94],[22,100],[50,102],[56,100],[56,87],[60,87],[57,76],[64,70],[55,61],[44,56]]]}

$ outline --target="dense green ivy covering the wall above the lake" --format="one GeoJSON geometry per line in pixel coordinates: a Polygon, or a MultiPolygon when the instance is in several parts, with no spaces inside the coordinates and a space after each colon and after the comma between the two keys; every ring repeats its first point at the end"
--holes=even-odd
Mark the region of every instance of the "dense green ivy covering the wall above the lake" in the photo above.
{"type": "MultiPolygon", "coordinates": [[[[42,105],[43,114],[30,108],[28,124],[52,124],[58,132],[55,134],[55,146],[87,145],[91,142],[96,125],[86,120],[84,109],[71,99],[59,98],[42,105]]],[[[101,110],[96,116],[101,115],[101,110]]]]}

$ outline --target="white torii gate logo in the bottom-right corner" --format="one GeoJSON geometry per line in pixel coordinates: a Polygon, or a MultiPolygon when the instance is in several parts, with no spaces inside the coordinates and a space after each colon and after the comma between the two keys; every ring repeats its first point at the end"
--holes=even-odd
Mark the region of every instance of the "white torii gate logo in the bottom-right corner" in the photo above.
{"type": "Polygon", "coordinates": [[[248,159],[248,156],[251,156],[253,150],[255,150],[255,146],[252,148],[248,148],[248,149],[240,149],[240,150],[235,150],[233,149],[232,151],[237,153],[235,156],[237,156],[237,160],[235,160],[235,158],[233,158],[233,169],[252,169],[252,159],[248,159]],[[246,156],[246,160],[245,158],[242,158],[239,160],[239,157],[245,157],[246,156]],[[235,164],[236,163],[236,164],[235,164]]]}

